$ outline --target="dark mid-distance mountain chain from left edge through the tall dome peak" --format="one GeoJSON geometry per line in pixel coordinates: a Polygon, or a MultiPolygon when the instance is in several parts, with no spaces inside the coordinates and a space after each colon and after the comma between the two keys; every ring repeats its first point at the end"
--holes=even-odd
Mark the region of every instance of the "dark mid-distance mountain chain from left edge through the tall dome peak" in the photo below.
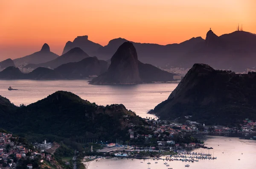
{"type": "Polygon", "coordinates": [[[175,75],[138,61],[136,49],[131,42],[124,42],[117,49],[109,68],[108,62],[96,56],[89,57],[77,47],[52,61],[29,64],[24,68],[35,70],[22,73],[19,68],[8,67],[0,72],[0,79],[84,79],[96,75],[99,77],[90,84],[138,84],[172,81],[175,75]]]}

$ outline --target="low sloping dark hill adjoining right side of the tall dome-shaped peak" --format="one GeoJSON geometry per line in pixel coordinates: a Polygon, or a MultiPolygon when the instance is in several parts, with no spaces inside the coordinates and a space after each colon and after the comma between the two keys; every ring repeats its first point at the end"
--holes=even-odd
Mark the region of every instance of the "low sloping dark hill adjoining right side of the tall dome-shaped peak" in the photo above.
{"type": "Polygon", "coordinates": [[[175,74],[163,71],[153,65],[138,61],[140,79],[143,83],[168,82],[173,80],[175,74]]]}

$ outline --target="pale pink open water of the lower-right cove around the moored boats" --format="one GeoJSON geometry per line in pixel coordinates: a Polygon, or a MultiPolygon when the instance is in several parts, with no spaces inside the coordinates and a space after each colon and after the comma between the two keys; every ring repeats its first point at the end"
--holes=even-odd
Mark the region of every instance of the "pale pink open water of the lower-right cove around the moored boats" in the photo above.
{"type": "MultiPolygon", "coordinates": [[[[213,149],[196,149],[195,152],[210,153],[217,157],[216,160],[199,160],[198,162],[168,161],[169,167],[164,165],[163,160],[150,160],[151,169],[256,169],[256,141],[241,140],[239,138],[229,138],[222,136],[208,136],[205,142],[213,149]],[[230,141],[231,139],[231,141],[230,141]],[[219,146],[218,146],[219,145],[219,146]],[[224,153],[222,153],[224,152],[224,153]],[[243,153],[243,155],[241,155],[243,153]],[[240,161],[238,159],[241,159],[240,161]],[[189,164],[189,167],[185,167],[189,164]]],[[[92,162],[89,169],[148,169],[148,160],[140,163],[139,159],[104,159],[99,162],[92,162]]]]}

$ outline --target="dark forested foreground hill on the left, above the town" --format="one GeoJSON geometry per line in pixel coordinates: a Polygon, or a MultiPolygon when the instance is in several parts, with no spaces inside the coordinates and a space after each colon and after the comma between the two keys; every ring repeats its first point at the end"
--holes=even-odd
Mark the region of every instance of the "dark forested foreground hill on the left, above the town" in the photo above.
{"type": "Polygon", "coordinates": [[[127,136],[129,138],[125,128],[129,123],[147,124],[135,113],[126,110],[122,104],[98,106],[64,91],[55,92],[28,106],[17,107],[16,111],[3,113],[15,118],[0,118],[0,127],[14,133],[31,132],[66,138],[85,138],[89,132],[94,134],[94,138],[125,139],[127,136]],[[124,118],[126,115],[128,117],[124,118]]]}

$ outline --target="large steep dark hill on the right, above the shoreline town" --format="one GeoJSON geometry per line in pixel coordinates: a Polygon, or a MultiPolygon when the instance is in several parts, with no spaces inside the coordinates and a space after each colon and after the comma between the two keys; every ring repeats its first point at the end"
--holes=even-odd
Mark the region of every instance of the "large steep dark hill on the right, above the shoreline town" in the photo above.
{"type": "Polygon", "coordinates": [[[161,119],[189,119],[205,124],[235,124],[256,118],[256,74],[235,74],[195,64],[166,101],[153,112],[161,119]]]}

